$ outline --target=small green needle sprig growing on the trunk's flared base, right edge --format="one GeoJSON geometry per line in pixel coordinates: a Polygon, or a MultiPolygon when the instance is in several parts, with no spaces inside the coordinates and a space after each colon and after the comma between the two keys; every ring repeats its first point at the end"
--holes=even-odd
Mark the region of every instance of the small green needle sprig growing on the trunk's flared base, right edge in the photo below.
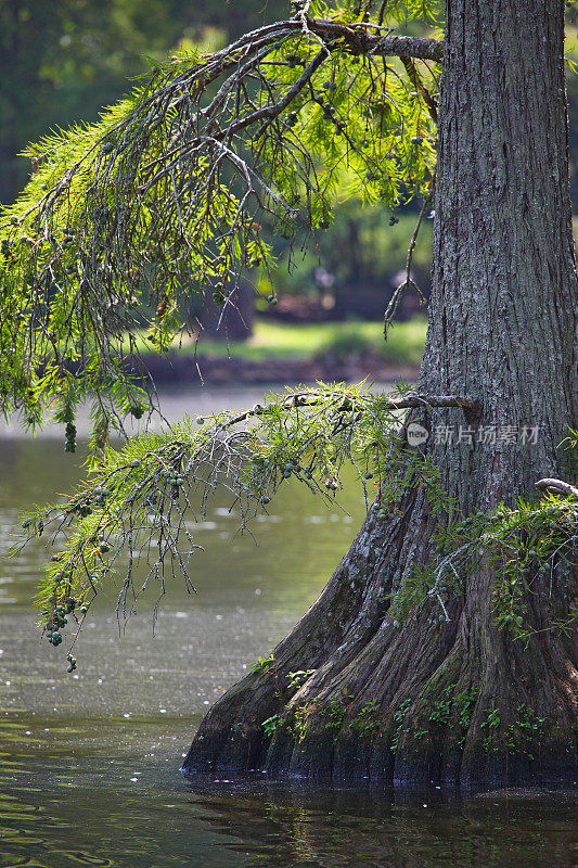
{"type": "Polygon", "coordinates": [[[496,576],[492,614],[500,628],[527,640],[531,627],[528,608],[536,598],[551,611],[550,626],[567,633],[578,618],[571,570],[578,564],[578,498],[547,494],[539,502],[519,499],[515,508],[504,505],[492,513],[476,513],[449,526],[438,526],[436,557],[424,569],[415,569],[396,595],[388,617],[394,626],[431,600],[440,613],[431,616],[438,627],[449,621],[451,601],[465,591],[468,575],[486,565],[496,576]],[[551,590],[564,611],[552,611],[551,590]]]}

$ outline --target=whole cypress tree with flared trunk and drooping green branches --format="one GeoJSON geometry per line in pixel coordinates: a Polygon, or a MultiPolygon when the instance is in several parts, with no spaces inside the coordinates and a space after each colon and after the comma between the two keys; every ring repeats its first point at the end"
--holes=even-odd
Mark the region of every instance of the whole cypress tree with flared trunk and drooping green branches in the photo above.
{"type": "MultiPolygon", "coordinates": [[[[29,150],[37,171],[1,227],[4,410],[34,424],[56,404],[74,448],[75,407],[97,396],[95,475],[24,522],[26,535],[68,529],[42,623],[59,644],[66,611],[82,600],[84,621],[124,545],[151,552],[154,539],[159,592],[171,571],[187,577],[191,489],[204,505],[228,485],[244,527],[290,478],[331,496],[349,459],[378,481],[363,527],[293,633],[214,706],[184,769],[570,781],[564,4],[450,0],[444,43],[391,34],[396,15],[427,14],[422,2],[335,12],[299,3],[221,52],[182,53],[99,125],[29,150]],[[106,448],[124,412],[144,411],[124,365],[139,305],[156,304],[150,340],[163,349],[181,328],[183,280],[226,316],[243,268],[267,267],[264,210],[301,243],[331,221],[338,186],[394,216],[421,194],[425,214],[436,171],[418,393],[303,391],[106,448]],[[532,500],[537,481],[557,495],[532,500]]],[[[121,605],[134,597],[129,565],[121,605]]]]}

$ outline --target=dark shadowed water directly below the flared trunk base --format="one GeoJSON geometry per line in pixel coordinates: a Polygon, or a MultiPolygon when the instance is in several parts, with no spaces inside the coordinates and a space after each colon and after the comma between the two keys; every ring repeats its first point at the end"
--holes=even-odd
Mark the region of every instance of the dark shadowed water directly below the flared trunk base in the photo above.
{"type": "Polygon", "coordinates": [[[196,791],[194,800],[209,828],[239,839],[230,846],[267,868],[576,865],[574,793],[313,792],[255,783],[245,792],[196,791]]]}

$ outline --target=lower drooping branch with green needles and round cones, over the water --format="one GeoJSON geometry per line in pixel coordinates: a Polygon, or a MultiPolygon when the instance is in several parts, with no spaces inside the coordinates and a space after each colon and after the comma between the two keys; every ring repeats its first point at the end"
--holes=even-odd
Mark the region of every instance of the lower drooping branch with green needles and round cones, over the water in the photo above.
{"type": "Polygon", "coordinates": [[[416,456],[410,474],[403,441],[391,436],[400,425],[397,404],[403,405],[411,394],[400,385],[396,403],[391,395],[373,395],[364,384],[320,384],[272,395],[265,405],[237,416],[185,417],[166,434],[143,434],[118,450],[108,446],[89,478],[63,502],[24,516],[23,544],[42,535],[52,541],[62,534],[66,538],[47,565],[38,591],[42,624],[70,598],[90,604],[108,579],[120,582],[117,611],[123,617],[133,611],[150,580],[156,583],[159,597],[167,577],[181,577],[194,590],[190,559],[201,548],[194,524],[205,518],[218,489],[230,493],[241,532],[267,511],[290,480],[333,502],[346,462],[357,469],[365,497],[367,477],[378,485],[386,463],[391,477],[396,463],[403,467],[400,487],[393,486],[391,478],[384,485],[384,509],[412,484],[425,485],[437,502],[439,483],[433,469],[416,456]],[[141,559],[149,572],[139,589],[133,575],[141,559]]]}

